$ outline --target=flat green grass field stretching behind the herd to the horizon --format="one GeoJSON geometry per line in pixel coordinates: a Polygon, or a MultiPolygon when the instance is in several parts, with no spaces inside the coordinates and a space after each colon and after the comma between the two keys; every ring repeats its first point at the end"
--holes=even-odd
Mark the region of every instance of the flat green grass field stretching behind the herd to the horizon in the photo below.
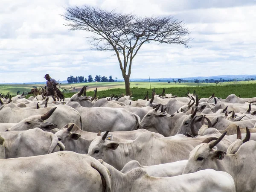
{"type": "MultiPolygon", "coordinates": [[[[76,84],[61,84],[61,90],[69,89],[64,93],[66,97],[72,96],[74,93],[79,91],[81,87],[88,85],[87,95],[93,96],[93,90],[98,90],[97,96],[111,96],[122,95],[125,93],[125,83],[124,82],[107,82],[107,83],[76,83],[76,84]]],[[[17,94],[19,90],[20,93],[25,91],[28,93],[33,86],[44,87],[44,84],[0,84],[0,93],[6,94],[10,92],[12,96],[17,94]]],[[[143,99],[147,91],[149,91],[149,97],[151,97],[151,90],[155,87],[157,94],[160,94],[163,88],[166,89],[165,93],[172,93],[177,96],[185,96],[185,93],[189,90],[192,93],[194,90],[198,94],[198,97],[209,97],[212,93],[215,96],[226,98],[231,93],[241,96],[242,98],[256,97],[256,81],[236,81],[236,82],[225,82],[216,84],[212,83],[167,83],[167,82],[131,82],[130,84],[134,99],[143,99]],[[151,87],[151,88],[150,88],[151,87]]]]}

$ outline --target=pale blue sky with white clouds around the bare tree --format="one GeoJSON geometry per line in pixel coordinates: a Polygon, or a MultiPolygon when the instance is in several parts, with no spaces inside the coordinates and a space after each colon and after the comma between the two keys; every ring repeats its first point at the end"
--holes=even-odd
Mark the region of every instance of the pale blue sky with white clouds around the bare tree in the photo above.
{"type": "Polygon", "coordinates": [[[147,44],[132,78],[256,74],[256,0],[0,0],[0,83],[96,75],[122,79],[113,52],[90,50],[85,32],[69,31],[65,8],[82,5],[183,20],[181,45],[147,44]]]}

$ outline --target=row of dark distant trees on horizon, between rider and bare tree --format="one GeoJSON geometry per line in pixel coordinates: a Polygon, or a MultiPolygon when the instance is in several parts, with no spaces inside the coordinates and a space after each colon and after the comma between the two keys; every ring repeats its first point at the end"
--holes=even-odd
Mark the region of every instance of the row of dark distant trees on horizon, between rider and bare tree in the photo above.
{"type": "MultiPolygon", "coordinates": [[[[117,77],[115,78],[117,81],[117,77]]],[[[105,76],[95,76],[95,78],[93,79],[93,77],[91,75],[88,76],[87,78],[84,78],[84,76],[70,76],[67,78],[67,82],[68,83],[83,83],[83,82],[114,82],[115,80],[112,78],[112,76],[109,76],[108,78],[105,76]]]]}

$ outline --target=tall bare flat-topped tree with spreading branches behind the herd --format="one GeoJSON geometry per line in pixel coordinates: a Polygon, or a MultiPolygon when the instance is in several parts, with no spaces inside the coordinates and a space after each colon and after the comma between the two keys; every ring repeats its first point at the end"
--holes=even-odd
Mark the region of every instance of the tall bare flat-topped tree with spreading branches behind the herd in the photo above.
{"type": "Polygon", "coordinates": [[[126,95],[130,95],[131,66],[141,46],[148,42],[183,44],[188,48],[190,38],[183,21],[173,17],[137,17],[91,6],[73,6],[62,15],[70,30],[84,30],[94,35],[87,37],[93,50],[114,51],[122,76],[126,95]]]}

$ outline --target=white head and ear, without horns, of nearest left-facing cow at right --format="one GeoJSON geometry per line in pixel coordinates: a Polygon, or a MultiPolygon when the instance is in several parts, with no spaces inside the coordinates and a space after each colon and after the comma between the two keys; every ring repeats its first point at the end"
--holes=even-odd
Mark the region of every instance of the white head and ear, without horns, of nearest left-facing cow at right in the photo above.
{"type": "Polygon", "coordinates": [[[221,161],[226,152],[216,150],[217,148],[209,148],[209,144],[201,143],[196,146],[189,154],[189,160],[182,174],[193,173],[203,169],[220,170],[221,161]]]}

